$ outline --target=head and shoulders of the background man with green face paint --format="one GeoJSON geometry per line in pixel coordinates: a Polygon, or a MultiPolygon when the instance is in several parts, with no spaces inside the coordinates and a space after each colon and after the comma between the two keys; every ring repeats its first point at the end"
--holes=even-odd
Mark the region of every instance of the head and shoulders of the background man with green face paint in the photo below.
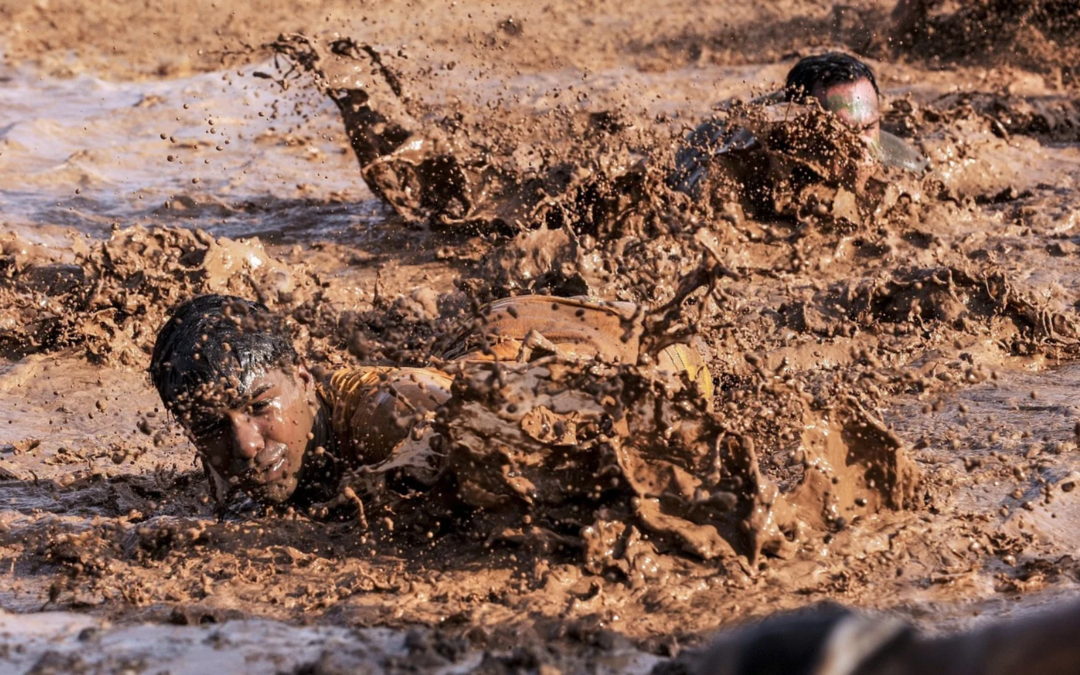
{"type": "MultiPolygon", "coordinates": [[[[764,180],[770,171],[759,136],[764,130],[777,126],[770,124],[773,121],[783,121],[787,126],[792,119],[811,120],[806,116],[808,107],[819,107],[858,134],[865,154],[846,153],[854,154],[855,163],[865,159],[867,165],[877,161],[908,172],[926,168],[927,162],[918,152],[881,130],[880,91],[873,69],[853,56],[831,52],[800,59],[788,71],[782,91],[740,108],[744,123],[738,119],[732,123],[731,111],[735,108],[728,105],[724,114],[699,125],[678,151],[669,184],[699,200],[715,189],[716,174],[723,174],[720,178],[742,190],[755,189],[751,186],[764,180]]],[[[818,147],[809,140],[808,165],[814,163],[814,154],[825,156],[835,149],[826,147],[829,145],[827,138],[818,147]]],[[[769,186],[758,189],[767,190],[769,186]]]]}

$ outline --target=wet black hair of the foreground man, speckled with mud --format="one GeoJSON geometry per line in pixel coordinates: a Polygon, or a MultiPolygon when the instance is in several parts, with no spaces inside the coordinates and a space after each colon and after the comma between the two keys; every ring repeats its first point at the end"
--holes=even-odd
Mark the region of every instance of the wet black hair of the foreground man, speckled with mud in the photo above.
{"type": "Polygon", "coordinates": [[[296,350],[265,305],[202,295],[177,307],[158,332],[149,373],[162,403],[174,409],[200,388],[228,382],[243,393],[267,369],[296,363],[296,350]]]}

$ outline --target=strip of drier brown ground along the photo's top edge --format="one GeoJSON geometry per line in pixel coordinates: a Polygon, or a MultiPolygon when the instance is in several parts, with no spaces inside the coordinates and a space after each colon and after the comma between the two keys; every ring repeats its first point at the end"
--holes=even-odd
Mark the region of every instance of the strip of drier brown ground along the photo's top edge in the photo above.
{"type": "Polygon", "coordinates": [[[913,58],[931,67],[1018,67],[1075,83],[1072,0],[784,0],[769,8],[727,3],[550,4],[418,2],[401,9],[319,0],[287,11],[274,2],[233,4],[125,0],[56,5],[4,0],[5,53],[55,75],[99,69],[119,78],[161,78],[218,70],[246,60],[279,32],[337,30],[380,45],[406,44],[422,58],[508,71],[630,64],[662,71],[686,65],[778,60],[794,52],[845,46],[876,58],[913,58]],[[422,8],[424,11],[413,11],[422,8]],[[534,28],[530,28],[532,26],[534,28]],[[159,36],[167,35],[168,39],[159,36]],[[393,36],[393,39],[383,39],[393,36]],[[498,59],[488,54],[497,50],[498,59]],[[71,52],[78,56],[72,58],[71,52]],[[497,62],[497,63],[496,63],[497,62]]]}

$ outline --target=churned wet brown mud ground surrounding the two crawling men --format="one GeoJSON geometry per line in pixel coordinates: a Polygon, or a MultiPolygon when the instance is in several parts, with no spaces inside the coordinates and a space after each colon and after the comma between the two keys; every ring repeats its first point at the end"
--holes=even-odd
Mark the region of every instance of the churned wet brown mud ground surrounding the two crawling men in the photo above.
{"type": "Polygon", "coordinates": [[[647,673],[826,599],[946,632],[1076,594],[1080,116],[1036,23],[973,64],[860,42],[877,3],[315,4],[197,3],[164,30],[175,8],[0,3],[0,672],[647,673]],[[333,102],[255,46],[327,29],[386,55],[463,157],[570,176],[557,208],[477,232],[384,206],[333,102]],[[717,104],[829,44],[879,59],[885,126],[927,176],[778,189],[771,217],[664,187],[717,104]],[[575,186],[645,157],[636,199],[579,208],[575,186]],[[462,469],[468,505],[509,505],[221,514],[144,375],[168,308],[205,292],[270,305],[324,372],[429,363],[495,297],[633,300],[692,335],[717,393],[521,368],[518,417],[488,418],[467,370],[440,429],[460,465],[501,424],[548,501],[462,469]],[[567,469],[529,420],[571,411],[590,441],[567,469]]]}

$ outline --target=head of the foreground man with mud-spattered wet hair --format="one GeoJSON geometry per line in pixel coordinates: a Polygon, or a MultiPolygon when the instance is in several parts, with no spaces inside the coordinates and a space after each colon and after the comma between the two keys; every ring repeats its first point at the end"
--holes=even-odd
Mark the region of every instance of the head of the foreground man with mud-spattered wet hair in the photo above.
{"type": "Polygon", "coordinates": [[[158,333],[149,372],[212,471],[259,501],[292,496],[318,399],[265,306],[224,295],[184,302],[158,333]]]}

